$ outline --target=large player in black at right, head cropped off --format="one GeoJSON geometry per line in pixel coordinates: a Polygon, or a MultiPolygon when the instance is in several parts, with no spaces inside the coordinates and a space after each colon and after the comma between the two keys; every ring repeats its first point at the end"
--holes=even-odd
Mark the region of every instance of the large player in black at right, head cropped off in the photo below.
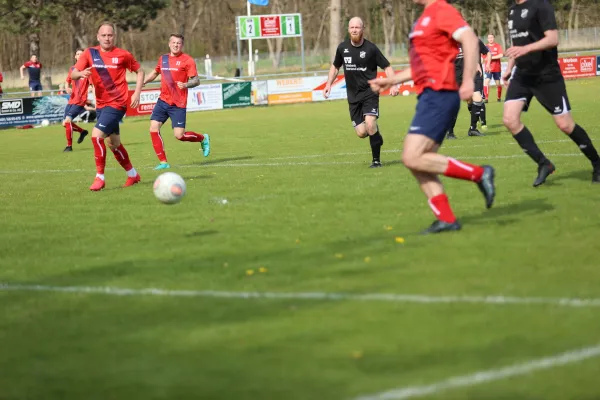
{"type": "Polygon", "coordinates": [[[592,182],[600,183],[598,152],[571,115],[565,81],[558,65],[558,31],[552,5],[547,0],[516,0],[508,12],[508,30],[513,47],[506,51],[509,62],[504,80],[510,79],[510,85],[503,119],[519,146],[538,164],[538,176],[533,186],[543,184],[556,169],[521,122],[521,112],[527,111],[533,97],[552,114],[558,128],[591,161],[592,182]]]}

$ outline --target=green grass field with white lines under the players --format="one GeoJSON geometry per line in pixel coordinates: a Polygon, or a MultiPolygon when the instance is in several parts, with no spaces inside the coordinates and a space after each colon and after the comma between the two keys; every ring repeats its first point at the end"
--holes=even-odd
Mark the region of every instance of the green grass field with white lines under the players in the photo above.
{"type": "MultiPolygon", "coordinates": [[[[600,143],[600,79],[568,88],[600,143]]],[[[121,189],[109,156],[99,193],[89,140],[0,132],[0,399],[600,398],[588,161],[535,103],[557,172],[534,189],[502,105],[483,138],[464,107],[444,152],[494,165],[496,204],[446,179],[463,230],[421,236],[433,215],[398,161],[414,104],[382,99],[377,170],[344,102],[190,114],[213,153],[164,130],[175,206],[152,195],[147,119],[121,127],[142,183],[121,189]]]]}

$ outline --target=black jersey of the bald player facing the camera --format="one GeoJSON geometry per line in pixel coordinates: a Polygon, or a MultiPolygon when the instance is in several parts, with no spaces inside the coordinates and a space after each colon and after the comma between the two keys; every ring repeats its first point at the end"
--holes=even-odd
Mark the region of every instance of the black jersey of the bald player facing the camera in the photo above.
{"type": "Polygon", "coordinates": [[[385,69],[390,62],[373,43],[364,39],[360,46],[352,45],[350,39],[342,42],[336,52],[333,65],[344,66],[348,102],[356,103],[371,96],[379,96],[369,86],[369,81],[377,77],[377,67],[385,69]]]}

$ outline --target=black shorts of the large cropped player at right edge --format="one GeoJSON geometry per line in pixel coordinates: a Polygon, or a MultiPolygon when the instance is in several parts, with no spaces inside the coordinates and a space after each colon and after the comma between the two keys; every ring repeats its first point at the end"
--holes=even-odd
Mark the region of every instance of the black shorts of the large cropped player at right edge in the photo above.
{"type": "Polygon", "coordinates": [[[524,101],[523,111],[527,111],[531,99],[534,97],[552,115],[566,114],[571,111],[565,80],[562,76],[556,77],[552,81],[515,76],[510,80],[504,101],[506,103],[524,101]]]}

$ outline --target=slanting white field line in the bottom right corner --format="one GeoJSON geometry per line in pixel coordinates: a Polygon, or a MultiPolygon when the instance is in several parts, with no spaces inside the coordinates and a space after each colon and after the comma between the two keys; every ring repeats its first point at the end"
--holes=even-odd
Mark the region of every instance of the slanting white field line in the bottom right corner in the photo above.
{"type": "Polygon", "coordinates": [[[567,351],[549,357],[513,364],[499,369],[488,369],[470,375],[455,376],[431,385],[408,386],[372,395],[360,396],[355,400],[402,400],[437,394],[449,389],[472,387],[482,383],[498,381],[516,376],[530,374],[535,371],[575,364],[600,356],[600,345],[567,351]]]}

